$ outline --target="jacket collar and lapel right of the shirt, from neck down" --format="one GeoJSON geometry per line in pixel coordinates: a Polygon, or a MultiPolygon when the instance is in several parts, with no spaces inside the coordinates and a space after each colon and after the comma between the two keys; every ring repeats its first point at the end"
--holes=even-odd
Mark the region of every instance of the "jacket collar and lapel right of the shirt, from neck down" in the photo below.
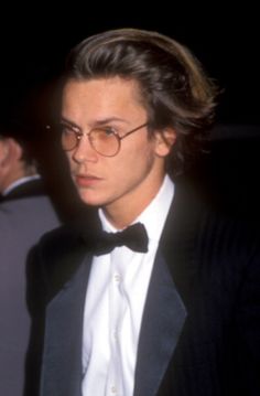
{"type": "Polygon", "coordinates": [[[193,190],[176,184],[143,312],[134,396],[156,395],[176,349],[188,313],[188,287],[196,274],[194,246],[199,216],[193,190]]]}

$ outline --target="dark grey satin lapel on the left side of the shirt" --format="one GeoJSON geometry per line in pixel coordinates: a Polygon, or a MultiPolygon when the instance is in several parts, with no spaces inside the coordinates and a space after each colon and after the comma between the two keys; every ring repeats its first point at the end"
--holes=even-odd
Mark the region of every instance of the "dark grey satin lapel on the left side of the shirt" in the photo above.
{"type": "Polygon", "coordinates": [[[83,312],[90,263],[91,257],[78,263],[73,278],[47,307],[44,395],[80,396],[83,312]]]}

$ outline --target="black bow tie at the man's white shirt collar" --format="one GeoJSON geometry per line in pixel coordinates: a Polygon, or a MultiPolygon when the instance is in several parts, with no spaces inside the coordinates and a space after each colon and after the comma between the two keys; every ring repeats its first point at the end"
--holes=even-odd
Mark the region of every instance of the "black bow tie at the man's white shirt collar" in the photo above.
{"type": "Polygon", "coordinates": [[[117,246],[127,246],[131,250],[147,253],[148,234],[143,224],[136,223],[118,233],[101,232],[88,240],[88,246],[96,256],[105,255],[117,246]]]}

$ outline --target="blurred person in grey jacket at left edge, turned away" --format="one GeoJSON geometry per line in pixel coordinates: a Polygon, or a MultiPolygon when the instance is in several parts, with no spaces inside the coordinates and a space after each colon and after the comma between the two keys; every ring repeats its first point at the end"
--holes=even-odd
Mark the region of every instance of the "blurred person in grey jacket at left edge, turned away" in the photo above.
{"type": "Polygon", "coordinates": [[[0,394],[21,396],[30,333],[26,256],[40,236],[56,227],[59,220],[37,172],[35,141],[42,141],[40,131],[22,120],[25,98],[14,104],[3,89],[1,95],[0,394]]]}

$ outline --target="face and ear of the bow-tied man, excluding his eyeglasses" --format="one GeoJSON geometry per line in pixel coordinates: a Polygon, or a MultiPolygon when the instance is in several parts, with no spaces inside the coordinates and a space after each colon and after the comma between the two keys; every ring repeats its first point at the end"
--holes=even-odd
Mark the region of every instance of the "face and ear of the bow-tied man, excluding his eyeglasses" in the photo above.
{"type": "MultiPolygon", "coordinates": [[[[62,120],[86,133],[100,124],[119,136],[148,121],[138,84],[119,77],[68,81],[63,92],[62,120]]],[[[156,135],[155,135],[156,136],[156,135]]],[[[86,136],[67,151],[72,178],[82,200],[109,211],[139,214],[156,194],[169,148],[149,138],[147,127],[121,140],[115,157],[102,157],[86,136]]]]}

